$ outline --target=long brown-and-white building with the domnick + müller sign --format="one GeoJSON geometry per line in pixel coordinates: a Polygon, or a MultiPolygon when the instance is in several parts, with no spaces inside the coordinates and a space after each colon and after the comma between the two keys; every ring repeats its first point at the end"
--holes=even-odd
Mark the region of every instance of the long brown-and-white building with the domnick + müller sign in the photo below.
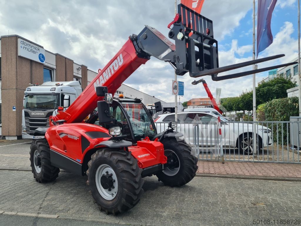
{"type": "MultiPolygon", "coordinates": [[[[0,37],[0,139],[20,139],[23,97],[29,83],[79,81],[82,89],[96,72],[59,53],[18,35],[0,37]]],[[[159,101],[129,86],[122,85],[114,96],[143,98],[145,104],[159,101]]]]}

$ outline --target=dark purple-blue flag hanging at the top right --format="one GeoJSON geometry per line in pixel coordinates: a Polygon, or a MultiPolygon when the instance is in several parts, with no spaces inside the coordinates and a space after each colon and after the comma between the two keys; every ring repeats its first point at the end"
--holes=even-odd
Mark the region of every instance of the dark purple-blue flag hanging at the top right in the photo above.
{"type": "Polygon", "coordinates": [[[277,0],[258,0],[257,10],[257,56],[273,42],[271,31],[272,13],[277,0]]]}

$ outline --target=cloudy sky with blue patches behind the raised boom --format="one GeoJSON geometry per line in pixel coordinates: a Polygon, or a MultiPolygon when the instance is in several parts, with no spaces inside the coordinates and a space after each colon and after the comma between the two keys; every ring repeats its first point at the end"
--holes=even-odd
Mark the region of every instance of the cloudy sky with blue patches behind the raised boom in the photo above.
{"type": "MultiPolygon", "coordinates": [[[[252,2],[205,0],[201,14],[213,20],[214,37],[219,42],[220,66],[252,59],[252,2]]],[[[167,36],[167,24],[174,17],[174,0],[0,0],[0,9],[0,36],[7,35],[8,31],[9,34],[18,34],[98,71],[118,52],[129,35],[138,34],[144,24],[167,36]]],[[[259,64],[259,68],[285,63],[296,57],[297,30],[297,1],[278,0],[272,17],[274,42],[259,54],[259,58],[281,53],[286,57],[259,64]]],[[[267,72],[258,74],[256,82],[264,77],[267,77],[267,72]]],[[[222,88],[221,97],[238,96],[243,90],[252,88],[252,75],[220,82],[212,81],[209,76],[204,78],[213,93],[216,88],[222,88]]],[[[174,101],[172,79],[173,68],[151,58],[124,83],[169,102],[174,101]]],[[[181,102],[207,96],[201,84],[191,85],[194,79],[188,74],[178,77],[178,80],[185,82],[181,102]]]]}

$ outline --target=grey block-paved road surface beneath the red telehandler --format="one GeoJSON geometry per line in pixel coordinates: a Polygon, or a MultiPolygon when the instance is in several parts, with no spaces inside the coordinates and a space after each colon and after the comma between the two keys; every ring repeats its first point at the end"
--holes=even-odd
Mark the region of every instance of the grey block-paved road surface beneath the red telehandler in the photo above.
{"type": "MultiPolygon", "coordinates": [[[[30,144],[11,144],[0,143],[0,158],[7,166],[28,167],[30,144]]],[[[60,173],[39,184],[30,171],[1,170],[0,225],[254,225],[254,219],[301,219],[301,182],[195,177],[171,188],[146,177],[137,206],[113,216],[98,210],[86,180],[60,173]]]]}

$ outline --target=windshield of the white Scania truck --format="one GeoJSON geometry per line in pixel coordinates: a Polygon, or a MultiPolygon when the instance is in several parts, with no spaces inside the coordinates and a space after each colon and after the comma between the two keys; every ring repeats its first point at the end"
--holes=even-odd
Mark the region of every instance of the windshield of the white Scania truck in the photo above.
{"type": "Polygon", "coordinates": [[[26,95],[24,108],[54,109],[58,107],[58,95],[26,95]]]}

